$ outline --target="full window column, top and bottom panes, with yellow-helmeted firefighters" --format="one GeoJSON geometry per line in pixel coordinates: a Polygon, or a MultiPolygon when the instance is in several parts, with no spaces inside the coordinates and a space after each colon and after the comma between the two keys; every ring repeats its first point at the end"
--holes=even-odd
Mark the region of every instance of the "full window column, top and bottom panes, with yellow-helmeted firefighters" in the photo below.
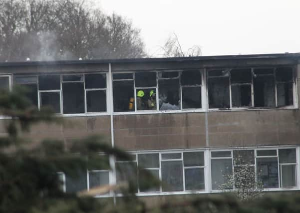
{"type": "Polygon", "coordinates": [[[156,72],[136,72],[137,110],[156,110],[156,72]]]}

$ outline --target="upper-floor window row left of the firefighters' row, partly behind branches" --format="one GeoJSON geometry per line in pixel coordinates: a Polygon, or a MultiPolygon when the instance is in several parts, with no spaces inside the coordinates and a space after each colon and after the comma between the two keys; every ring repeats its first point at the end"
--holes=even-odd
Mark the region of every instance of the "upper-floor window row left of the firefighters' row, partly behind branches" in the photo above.
{"type": "Polygon", "coordinates": [[[15,76],[28,88],[27,97],[38,107],[51,106],[56,113],[106,112],[106,74],[15,76]]]}

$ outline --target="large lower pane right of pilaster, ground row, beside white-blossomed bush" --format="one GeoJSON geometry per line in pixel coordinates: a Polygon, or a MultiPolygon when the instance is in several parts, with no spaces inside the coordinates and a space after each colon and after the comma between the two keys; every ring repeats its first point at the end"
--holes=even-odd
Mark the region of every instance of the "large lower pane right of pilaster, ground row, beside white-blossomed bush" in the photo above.
{"type": "MultiPolygon", "coordinates": [[[[222,185],[228,183],[228,178],[232,176],[232,159],[211,159],[211,167],[212,190],[220,190],[222,185]]],[[[225,188],[232,189],[233,186],[226,186],[225,188]]]]}

